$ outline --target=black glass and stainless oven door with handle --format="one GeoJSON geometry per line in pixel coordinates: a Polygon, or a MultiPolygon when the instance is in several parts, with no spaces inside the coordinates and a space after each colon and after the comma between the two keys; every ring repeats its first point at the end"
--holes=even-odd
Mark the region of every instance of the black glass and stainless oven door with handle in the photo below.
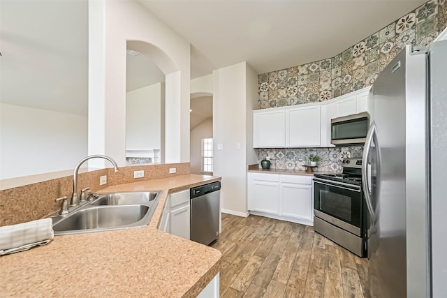
{"type": "Polygon", "coordinates": [[[362,188],[314,178],[314,215],[362,237],[362,188]]]}

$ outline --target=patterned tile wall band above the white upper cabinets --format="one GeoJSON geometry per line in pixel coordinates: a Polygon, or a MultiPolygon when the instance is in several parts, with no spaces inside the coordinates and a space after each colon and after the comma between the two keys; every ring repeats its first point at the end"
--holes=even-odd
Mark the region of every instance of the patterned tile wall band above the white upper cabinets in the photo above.
{"type": "Polygon", "coordinates": [[[337,56],[258,75],[258,108],[328,100],[372,85],[405,45],[428,45],[447,25],[447,1],[430,0],[337,56]]]}

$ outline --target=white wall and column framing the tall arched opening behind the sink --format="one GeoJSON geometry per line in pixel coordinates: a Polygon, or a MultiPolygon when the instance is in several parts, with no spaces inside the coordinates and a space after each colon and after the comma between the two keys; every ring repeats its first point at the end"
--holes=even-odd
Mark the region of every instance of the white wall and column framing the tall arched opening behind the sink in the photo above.
{"type": "Polygon", "coordinates": [[[190,45],[137,1],[89,1],[89,154],[125,164],[127,40],[152,45],[154,63],[171,76],[166,79],[166,162],[189,161],[190,45]]]}

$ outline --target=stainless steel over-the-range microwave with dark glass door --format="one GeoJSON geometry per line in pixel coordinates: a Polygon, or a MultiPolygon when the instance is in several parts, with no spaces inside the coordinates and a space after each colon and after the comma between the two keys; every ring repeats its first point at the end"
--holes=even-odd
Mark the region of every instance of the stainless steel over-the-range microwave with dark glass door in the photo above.
{"type": "Polygon", "coordinates": [[[362,112],[330,120],[330,143],[335,146],[365,144],[369,114],[362,112]]]}

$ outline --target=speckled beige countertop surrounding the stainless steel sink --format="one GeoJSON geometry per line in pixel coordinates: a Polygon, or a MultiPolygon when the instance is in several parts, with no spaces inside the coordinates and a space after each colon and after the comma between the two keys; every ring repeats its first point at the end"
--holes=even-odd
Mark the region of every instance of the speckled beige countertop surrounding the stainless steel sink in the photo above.
{"type": "Polygon", "coordinates": [[[55,237],[0,258],[1,297],[196,297],[219,272],[221,253],[157,229],[168,193],[221,180],[189,174],[104,188],[162,190],[147,227],[55,237]]]}

